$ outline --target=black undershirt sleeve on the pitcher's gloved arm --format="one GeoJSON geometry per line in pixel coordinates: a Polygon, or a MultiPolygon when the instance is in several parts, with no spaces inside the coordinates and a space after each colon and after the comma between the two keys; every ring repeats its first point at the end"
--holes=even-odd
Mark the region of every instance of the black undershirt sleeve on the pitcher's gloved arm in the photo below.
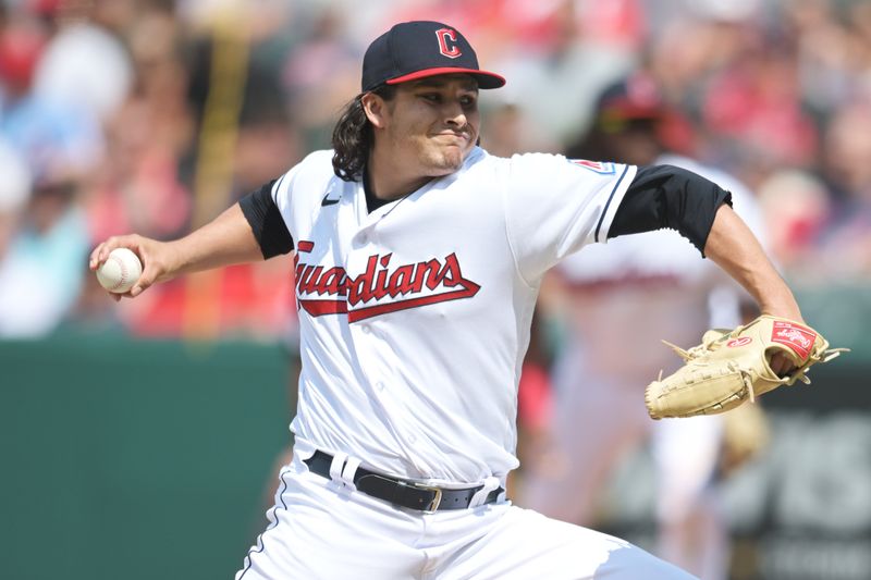
{"type": "Polygon", "coordinates": [[[674,165],[638,168],[608,237],[677,230],[704,256],[716,210],[732,206],[732,194],[701,175],[674,165]]]}

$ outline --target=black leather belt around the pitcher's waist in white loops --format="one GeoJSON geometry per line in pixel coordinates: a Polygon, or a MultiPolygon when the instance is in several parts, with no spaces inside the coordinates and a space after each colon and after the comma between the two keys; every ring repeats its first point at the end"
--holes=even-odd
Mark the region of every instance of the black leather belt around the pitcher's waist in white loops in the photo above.
{"type": "MultiPolygon", "coordinates": [[[[323,452],[315,452],[315,455],[305,460],[312,473],[327,479],[331,479],[330,466],[332,462],[333,456],[323,452]]],[[[483,485],[476,485],[464,490],[446,490],[376,473],[361,467],[358,467],[357,472],[354,474],[354,485],[363,493],[378,499],[409,509],[430,513],[443,509],[466,509],[469,507],[473,496],[483,488],[483,485]]],[[[502,488],[493,490],[487,494],[483,503],[494,503],[504,491],[502,488]]]]}

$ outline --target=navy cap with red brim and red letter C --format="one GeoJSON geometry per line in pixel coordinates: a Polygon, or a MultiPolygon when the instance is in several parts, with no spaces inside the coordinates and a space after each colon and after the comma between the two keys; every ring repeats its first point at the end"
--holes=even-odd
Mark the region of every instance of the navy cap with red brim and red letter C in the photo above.
{"type": "Polygon", "coordinates": [[[415,21],[396,24],[376,38],[363,58],[363,91],[441,74],[466,73],[479,88],[499,88],[502,76],[481,71],[469,41],[453,26],[415,21]]]}

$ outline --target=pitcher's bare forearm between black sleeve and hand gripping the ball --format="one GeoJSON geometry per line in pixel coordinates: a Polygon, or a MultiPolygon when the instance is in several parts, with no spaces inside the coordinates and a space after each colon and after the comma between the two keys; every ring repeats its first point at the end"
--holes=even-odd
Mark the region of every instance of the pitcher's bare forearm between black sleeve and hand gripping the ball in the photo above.
{"type": "Polygon", "coordinates": [[[168,250],[172,276],[263,259],[238,203],[189,235],[169,243],[168,250]]]}

